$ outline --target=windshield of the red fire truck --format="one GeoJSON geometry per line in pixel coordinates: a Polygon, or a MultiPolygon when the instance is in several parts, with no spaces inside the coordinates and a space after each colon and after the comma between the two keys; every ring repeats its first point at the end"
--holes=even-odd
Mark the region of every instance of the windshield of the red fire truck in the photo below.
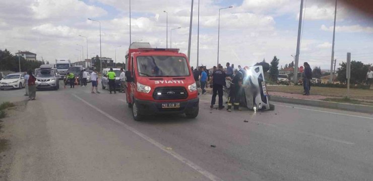
{"type": "Polygon", "coordinates": [[[189,76],[187,60],[182,56],[138,56],[139,76],[182,77],[189,76]]]}

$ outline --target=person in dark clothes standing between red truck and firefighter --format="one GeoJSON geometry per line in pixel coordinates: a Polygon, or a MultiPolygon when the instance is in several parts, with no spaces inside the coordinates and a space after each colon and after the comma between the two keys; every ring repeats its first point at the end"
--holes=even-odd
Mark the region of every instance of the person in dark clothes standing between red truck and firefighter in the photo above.
{"type": "Polygon", "coordinates": [[[213,108],[215,101],[216,101],[216,94],[219,96],[219,109],[223,109],[223,86],[225,84],[225,72],[223,71],[223,67],[220,66],[218,70],[214,71],[212,74],[212,98],[211,98],[211,106],[213,108]]]}

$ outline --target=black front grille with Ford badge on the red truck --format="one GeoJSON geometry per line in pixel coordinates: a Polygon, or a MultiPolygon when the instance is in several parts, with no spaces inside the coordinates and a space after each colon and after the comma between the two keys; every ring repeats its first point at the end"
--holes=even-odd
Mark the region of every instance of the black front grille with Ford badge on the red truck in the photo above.
{"type": "Polygon", "coordinates": [[[155,100],[186,99],[188,92],[183,87],[157,87],[153,92],[155,100]]]}

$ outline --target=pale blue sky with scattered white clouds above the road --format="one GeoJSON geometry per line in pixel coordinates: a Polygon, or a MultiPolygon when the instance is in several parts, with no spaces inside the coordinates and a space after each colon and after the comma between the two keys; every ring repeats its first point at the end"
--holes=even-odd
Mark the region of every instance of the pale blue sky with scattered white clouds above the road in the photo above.
{"type": "MultiPolygon", "coordinates": [[[[36,52],[38,57],[53,60],[68,57],[79,61],[81,55],[76,44],[88,37],[88,56],[99,54],[98,24],[101,21],[102,56],[113,57],[117,48],[117,61],[125,59],[129,45],[128,0],[17,0],[0,3],[1,49],[22,49],[36,52]],[[19,12],[10,7],[19,7],[19,12]],[[20,13],[22,12],[22,13],[20,13]],[[27,38],[25,36],[27,35],[27,38]]],[[[217,62],[217,17],[221,11],[219,62],[251,66],[265,58],[268,62],[277,55],[280,65],[292,61],[295,54],[298,28],[299,0],[201,0],[200,64],[214,66],[217,62]]],[[[189,34],[189,0],[133,0],[132,40],[143,39],[155,47],[166,46],[166,16],[168,28],[181,27],[172,32],[172,46],[187,53],[189,34]]],[[[191,64],[197,63],[197,9],[194,5],[191,64]]],[[[300,61],[311,66],[330,67],[334,18],[333,3],[308,1],[305,8],[300,61]]],[[[168,41],[170,40],[168,31],[168,41]]],[[[373,28],[371,20],[338,6],[335,41],[336,58],[344,61],[350,51],[353,59],[372,63],[373,28]],[[364,53],[364,54],[362,54],[364,53]],[[369,53],[369,54],[367,54],[369,53]],[[356,54],[354,56],[354,54],[356,54]],[[356,57],[356,58],[354,58],[356,57]]],[[[169,45],[169,42],[167,42],[169,45]]],[[[86,48],[84,51],[86,54],[86,48]]],[[[86,55],[85,57],[86,58],[86,55]]]]}

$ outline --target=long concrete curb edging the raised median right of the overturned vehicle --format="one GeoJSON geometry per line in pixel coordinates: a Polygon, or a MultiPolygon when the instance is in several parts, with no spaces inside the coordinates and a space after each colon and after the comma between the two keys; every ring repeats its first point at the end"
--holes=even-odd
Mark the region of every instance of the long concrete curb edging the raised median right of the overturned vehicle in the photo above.
{"type": "Polygon", "coordinates": [[[322,101],[322,100],[296,99],[296,98],[279,97],[279,96],[271,96],[270,101],[309,105],[309,106],[315,106],[315,107],[341,109],[341,110],[348,110],[348,111],[355,111],[355,112],[373,113],[373,106],[368,106],[368,105],[328,102],[328,101],[322,101]]]}

